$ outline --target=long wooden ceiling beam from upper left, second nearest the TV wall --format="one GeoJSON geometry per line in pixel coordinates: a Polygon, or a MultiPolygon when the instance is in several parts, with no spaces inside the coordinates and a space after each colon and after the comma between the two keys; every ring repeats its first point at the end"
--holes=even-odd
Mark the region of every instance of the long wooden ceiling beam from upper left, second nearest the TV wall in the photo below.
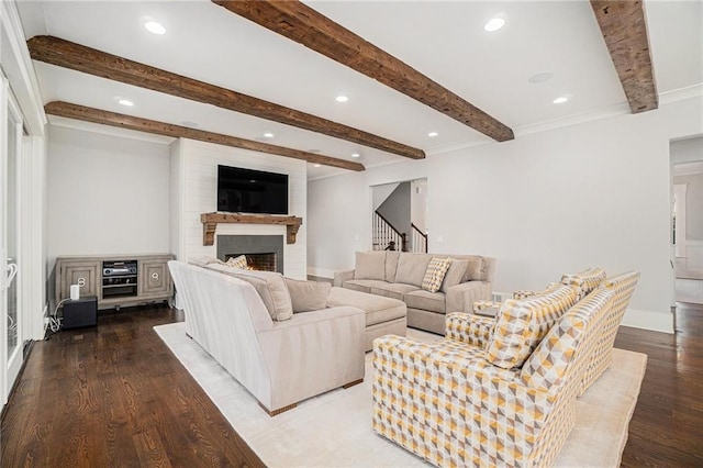
{"type": "Polygon", "coordinates": [[[27,41],[33,59],[346,140],[413,159],[422,149],[247,94],[53,36],[27,41]]]}

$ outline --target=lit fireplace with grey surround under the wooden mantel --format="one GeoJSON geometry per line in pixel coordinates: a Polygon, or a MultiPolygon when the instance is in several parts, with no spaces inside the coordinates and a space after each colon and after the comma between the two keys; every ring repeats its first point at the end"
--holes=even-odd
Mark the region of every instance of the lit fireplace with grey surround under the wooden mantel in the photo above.
{"type": "Polygon", "coordinates": [[[245,255],[249,268],[283,272],[282,235],[217,235],[217,258],[245,255]]]}

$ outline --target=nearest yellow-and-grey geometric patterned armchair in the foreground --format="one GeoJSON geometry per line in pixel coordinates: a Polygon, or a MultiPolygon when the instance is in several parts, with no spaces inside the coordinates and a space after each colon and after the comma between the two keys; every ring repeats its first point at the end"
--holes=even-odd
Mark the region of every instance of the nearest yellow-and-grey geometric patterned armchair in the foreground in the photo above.
{"type": "Polygon", "coordinates": [[[435,466],[549,466],[616,296],[600,288],[572,307],[578,292],[563,288],[551,301],[511,300],[514,323],[450,314],[456,326],[435,343],[377,338],[373,430],[435,466]],[[513,346],[520,334],[532,346],[513,346]],[[518,364],[505,368],[511,349],[518,364]]]}

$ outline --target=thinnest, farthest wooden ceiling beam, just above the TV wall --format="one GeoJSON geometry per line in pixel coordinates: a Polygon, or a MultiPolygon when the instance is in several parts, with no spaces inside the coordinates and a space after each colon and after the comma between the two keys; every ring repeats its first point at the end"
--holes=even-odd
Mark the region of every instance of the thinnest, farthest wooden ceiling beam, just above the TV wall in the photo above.
{"type": "Polygon", "coordinates": [[[238,138],[236,136],[223,135],[221,133],[205,132],[203,130],[190,129],[188,126],[172,125],[170,123],[155,120],[142,119],[133,115],[125,115],[118,112],[104,111],[101,109],[88,108],[63,101],[53,101],[44,107],[47,114],[58,115],[68,119],[81,120],[85,122],[100,123],[103,125],[116,126],[120,129],[136,130],[138,132],[153,133],[156,135],[172,136],[174,138],[190,138],[200,142],[215,143],[217,145],[232,146],[235,148],[250,149],[253,152],[268,153],[278,156],[286,156],[294,159],[303,159],[313,164],[339,167],[348,170],[365,170],[364,165],[345,159],[337,159],[314,153],[301,152],[283,146],[269,145],[267,143],[254,142],[238,138]]]}

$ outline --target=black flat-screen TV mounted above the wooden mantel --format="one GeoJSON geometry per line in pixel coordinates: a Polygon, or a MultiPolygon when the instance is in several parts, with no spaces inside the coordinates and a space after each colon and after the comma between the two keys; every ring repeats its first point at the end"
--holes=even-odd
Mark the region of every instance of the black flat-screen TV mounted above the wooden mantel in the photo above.
{"type": "Polygon", "coordinates": [[[217,211],[288,214],[288,174],[219,165],[217,211]]]}

